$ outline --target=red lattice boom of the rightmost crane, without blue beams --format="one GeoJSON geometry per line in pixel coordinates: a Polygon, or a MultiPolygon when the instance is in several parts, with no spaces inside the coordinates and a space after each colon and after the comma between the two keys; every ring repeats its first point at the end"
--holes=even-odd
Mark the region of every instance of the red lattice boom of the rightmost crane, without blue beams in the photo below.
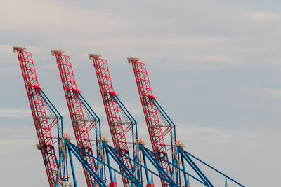
{"type": "MultiPolygon", "coordinates": [[[[133,73],[136,77],[136,85],[138,86],[138,93],[141,97],[141,104],[143,105],[143,113],[145,114],[146,124],[148,125],[148,132],[150,134],[152,149],[159,156],[168,160],[166,144],[164,142],[164,137],[166,134],[168,134],[167,129],[162,132],[162,128],[159,123],[157,108],[152,102],[155,97],[152,95],[148,72],[146,71],[145,64],[138,61],[138,58],[128,58],[128,62],[132,64],[133,73]]],[[[156,159],[159,162],[159,165],[161,165],[162,168],[164,168],[164,170],[168,174],[170,174],[169,164],[157,157],[156,159]]],[[[168,184],[164,180],[162,180],[161,182],[162,186],[168,186],[168,184]]]]}

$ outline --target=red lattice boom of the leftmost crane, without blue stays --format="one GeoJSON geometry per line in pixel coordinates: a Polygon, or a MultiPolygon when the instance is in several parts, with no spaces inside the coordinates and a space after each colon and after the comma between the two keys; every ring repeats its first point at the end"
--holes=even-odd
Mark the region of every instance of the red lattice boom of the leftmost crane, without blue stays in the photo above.
{"type": "Polygon", "coordinates": [[[39,140],[39,145],[37,148],[41,150],[43,156],[48,182],[51,187],[55,187],[58,174],[58,165],[55,161],[56,155],[55,149],[53,148],[53,138],[51,135],[51,128],[55,123],[48,123],[44,100],[38,92],[38,90],[41,90],[41,88],[38,83],[37,74],[32,60],[32,54],[25,51],[24,47],[18,46],[13,47],[13,51],[18,53],[18,60],[20,61],[27,97],[30,102],[30,109],[32,111],[32,117],[39,140]]]}

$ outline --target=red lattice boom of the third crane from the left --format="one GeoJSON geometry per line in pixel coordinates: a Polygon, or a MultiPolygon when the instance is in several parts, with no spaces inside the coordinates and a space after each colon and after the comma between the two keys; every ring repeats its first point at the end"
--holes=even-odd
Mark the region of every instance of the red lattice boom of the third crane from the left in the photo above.
{"type": "MultiPolygon", "coordinates": [[[[127,125],[124,127],[124,122],[120,117],[119,107],[114,99],[116,96],[115,91],[113,90],[113,85],[110,77],[110,71],[107,66],[107,61],[105,59],[101,59],[100,55],[89,54],[89,58],[93,59],[93,66],[96,69],[96,75],[98,78],[98,85],[100,86],[101,97],[103,98],[103,105],[105,106],[105,113],[107,116],[108,125],[110,126],[110,132],[112,136],[112,141],[115,148],[122,152],[124,155],[129,156],[129,148],[126,141],[126,134],[130,132],[131,125],[127,125]]],[[[119,158],[122,159],[126,167],[130,170],[131,161],[119,155],[119,158]]],[[[122,172],[122,169],[120,169],[122,172]]],[[[124,174],[124,172],[123,172],[124,174]]],[[[131,181],[126,177],[122,177],[124,186],[130,187],[131,181]]]]}

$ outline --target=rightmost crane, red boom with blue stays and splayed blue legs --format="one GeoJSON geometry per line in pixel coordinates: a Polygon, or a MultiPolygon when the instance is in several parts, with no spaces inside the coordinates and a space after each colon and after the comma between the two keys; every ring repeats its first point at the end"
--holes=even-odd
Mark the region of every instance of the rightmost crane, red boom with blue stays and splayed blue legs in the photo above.
{"type": "Polygon", "coordinates": [[[145,113],[145,120],[148,125],[148,131],[150,132],[150,139],[154,151],[154,153],[151,153],[155,155],[155,157],[159,158],[162,162],[167,163],[167,165],[169,166],[169,174],[171,178],[174,179],[176,185],[181,186],[182,174],[185,186],[190,186],[189,177],[191,176],[192,179],[199,183],[202,183],[204,186],[213,187],[215,181],[213,181],[211,177],[207,176],[207,174],[204,174],[204,172],[202,172],[202,168],[198,165],[201,164],[204,165],[204,167],[211,169],[219,176],[222,176],[225,179],[225,186],[228,186],[228,181],[234,183],[237,186],[243,186],[241,183],[230,178],[230,176],[223,174],[222,172],[218,171],[218,169],[211,167],[211,165],[208,165],[206,162],[203,162],[199,158],[183,149],[184,145],[181,144],[180,141],[176,141],[176,125],[171,120],[171,118],[169,118],[164,109],[162,109],[162,106],[160,106],[160,104],[157,102],[157,98],[152,95],[148,72],[146,70],[145,64],[139,62],[139,59],[136,57],[129,57],[128,62],[133,66],[133,73],[135,75],[138,92],[141,97],[141,103],[143,105],[143,111],[145,113]],[[159,123],[160,121],[161,124],[159,123]],[[158,137],[159,141],[157,141],[158,137]],[[164,151],[166,149],[164,148],[164,137],[166,137],[166,139],[170,139],[171,141],[170,146],[172,153],[172,162],[169,162],[169,160],[165,158],[166,152],[164,151]],[[162,142],[162,144],[159,142],[162,142]],[[161,150],[164,151],[161,152],[161,150]],[[164,154],[161,154],[163,152],[164,154]],[[186,171],[187,167],[189,167],[199,179],[196,178],[196,176],[188,173],[186,171]]]}

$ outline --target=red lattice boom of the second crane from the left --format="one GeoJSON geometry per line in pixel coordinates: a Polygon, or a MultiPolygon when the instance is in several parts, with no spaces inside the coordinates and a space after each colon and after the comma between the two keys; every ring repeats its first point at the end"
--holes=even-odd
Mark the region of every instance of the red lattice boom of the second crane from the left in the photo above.
{"type": "MultiPolygon", "coordinates": [[[[58,63],[60,78],[63,83],[63,90],[65,92],[68,110],[70,111],[70,118],[77,141],[77,146],[92,155],[93,151],[89,137],[89,130],[93,128],[94,122],[92,122],[88,126],[86,124],[82,104],[80,99],[77,97],[77,93],[79,93],[79,90],[77,89],[70,57],[67,55],[63,55],[63,51],[60,50],[52,50],[51,52],[52,55],[55,55],[58,63]]],[[[93,169],[95,169],[95,162],[90,155],[84,154],[84,159],[86,160],[86,162],[88,162],[89,165],[91,165],[93,169]]],[[[89,174],[89,172],[87,172],[85,168],[84,174],[86,177],[87,186],[93,187],[95,185],[93,176],[91,176],[91,174],[89,174]]]]}

